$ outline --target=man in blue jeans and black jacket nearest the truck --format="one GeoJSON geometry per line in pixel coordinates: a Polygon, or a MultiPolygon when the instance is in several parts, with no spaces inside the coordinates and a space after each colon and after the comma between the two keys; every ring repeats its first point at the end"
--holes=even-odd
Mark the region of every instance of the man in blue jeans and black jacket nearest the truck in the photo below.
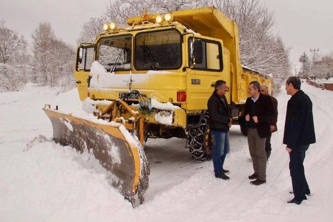
{"type": "Polygon", "coordinates": [[[213,165],[215,177],[229,180],[225,173],[228,170],[223,169],[224,160],[230,151],[229,144],[229,126],[233,119],[229,113],[228,101],[225,96],[228,91],[227,83],[218,80],[215,83],[215,91],[208,100],[208,114],[210,132],[214,141],[213,165]]]}

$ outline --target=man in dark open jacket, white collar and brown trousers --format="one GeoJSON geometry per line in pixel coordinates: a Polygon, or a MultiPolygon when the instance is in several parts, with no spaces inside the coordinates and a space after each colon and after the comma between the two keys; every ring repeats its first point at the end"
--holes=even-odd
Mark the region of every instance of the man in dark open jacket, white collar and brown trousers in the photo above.
{"type": "Polygon", "coordinates": [[[254,173],[249,176],[252,185],[266,183],[267,156],[265,151],[266,137],[270,133],[269,120],[273,117],[273,104],[269,96],[260,94],[260,84],[252,81],[249,84],[250,97],[245,103],[247,136],[254,173]]]}

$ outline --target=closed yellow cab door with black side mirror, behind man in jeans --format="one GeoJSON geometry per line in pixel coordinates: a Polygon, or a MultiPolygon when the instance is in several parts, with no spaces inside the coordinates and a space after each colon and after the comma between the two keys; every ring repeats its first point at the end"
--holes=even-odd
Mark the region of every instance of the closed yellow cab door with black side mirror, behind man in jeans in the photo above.
{"type": "MultiPolygon", "coordinates": [[[[215,82],[224,80],[230,87],[230,72],[227,73],[229,64],[225,67],[223,42],[220,39],[200,35],[188,36],[186,41],[188,47],[186,109],[193,111],[207,110],[207,101],[214,92],[215,82]],[[194,60],[193,57],[195,58],[194,60]]],[[[227,94],[226,96],[229,101],[230,95],[227,94]]]]}

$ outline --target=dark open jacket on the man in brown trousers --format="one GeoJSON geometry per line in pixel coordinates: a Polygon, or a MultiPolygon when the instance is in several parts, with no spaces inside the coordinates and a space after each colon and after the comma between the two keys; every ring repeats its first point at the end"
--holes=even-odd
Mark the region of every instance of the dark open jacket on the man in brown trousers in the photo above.
{"type": "MultiPolygon", "coordinates": [[[[254,114],[252,116],[250,114],[250,103],[252,103],[251,97],[249,97],[245,103],[244,118],[247,114],[250,115],[250,118],[252,118],[252,116],[257,116],[258,123],[256,123],[256,129],[258,135],[260,136],[260,138],[266,138],[270,133],[269,121],[274,116],[272,100],[269,96],[260,93],[258,100],[255,102],[256,110],[254,111],[254,114]]],[[[248,128],[246,131],[248,131],[248,128]]]]}

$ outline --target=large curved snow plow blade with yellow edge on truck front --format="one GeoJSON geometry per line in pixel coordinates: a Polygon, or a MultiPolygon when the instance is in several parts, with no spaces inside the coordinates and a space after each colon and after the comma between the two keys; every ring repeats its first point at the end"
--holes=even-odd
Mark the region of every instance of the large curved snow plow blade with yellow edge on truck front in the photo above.
{"type": "Polygon", "coordinates": [[[133,207],[137,205],[137,199],[143,203],[149,183],[149,165],[142,145],[135,142],[123,125],[101,124],[59,111],[43,110],[51,120],[56,143],[72,146],[81,153],[84,150],[93,153],[108,171],[110,184],[133,207]]]}

